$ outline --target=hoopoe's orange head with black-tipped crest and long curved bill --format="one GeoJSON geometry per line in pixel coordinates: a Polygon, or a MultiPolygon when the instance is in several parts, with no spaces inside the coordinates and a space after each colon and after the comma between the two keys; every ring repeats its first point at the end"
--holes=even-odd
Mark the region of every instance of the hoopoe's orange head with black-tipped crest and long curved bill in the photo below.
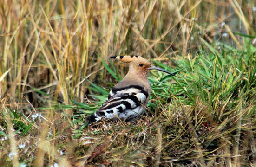
{"type": "Polygon", "coordinates": [[[121,62],[128,63],[129,71],[132,71],[132,72],[142,73],[147,75],[149,70],[159,70],[159,71],[166,72],[172,76],[175,76],[169,71],[166,71],[164,69],[151,65],[147,59],[142,58],[140,56],[125,55],[125,56],[112,56],[110,58],[118,59],[121,62]]]}

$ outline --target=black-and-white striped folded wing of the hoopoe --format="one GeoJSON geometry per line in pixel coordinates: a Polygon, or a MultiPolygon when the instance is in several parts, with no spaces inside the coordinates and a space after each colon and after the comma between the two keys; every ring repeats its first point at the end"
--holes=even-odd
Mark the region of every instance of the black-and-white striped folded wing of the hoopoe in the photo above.
{"type": "MultiPolygon", "coordinates": [[[[95,120],[101,118],[111,119],[119,116],[121,113],[130,110],[140,111],[141,104],[148,98],[148,93],[144,88],[138,85],[130,85],[123,88],[113,88],[102,106],[95,112],[95,120]]],[[[140,114],[140,113],[139,113],[140,114]]],[[[136,115],[136,113],[134,113],[136,115]]],[[[131,114],[130,114],[131,116],[131,114]]],[[[138,114],[137,114],[138,116],[138,114]]],[[[125,119],[122,116],[122,119],[125,119]]]]}

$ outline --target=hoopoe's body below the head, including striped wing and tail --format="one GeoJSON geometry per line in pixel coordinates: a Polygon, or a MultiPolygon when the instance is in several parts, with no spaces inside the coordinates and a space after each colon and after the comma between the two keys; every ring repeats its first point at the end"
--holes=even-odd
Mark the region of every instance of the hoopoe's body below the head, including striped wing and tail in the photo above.
{"type": "Polygon", "coordinates": [[[115,85],[105,103],[87,118],[89,125],[101,119],[131,120],[141,115],[148,103],[150,87],[147,82],[125,77],[115,85]]]}

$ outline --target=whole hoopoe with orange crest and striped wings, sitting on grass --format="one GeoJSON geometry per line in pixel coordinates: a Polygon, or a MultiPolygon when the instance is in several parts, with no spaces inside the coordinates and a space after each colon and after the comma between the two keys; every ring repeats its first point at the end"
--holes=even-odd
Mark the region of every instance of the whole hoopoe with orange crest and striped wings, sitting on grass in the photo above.
{"type": "Polygon", "coordinates": [[[140,56],[126,55],[112,56],[111,58],[128,63],[129,71],[112,88],[105,103],[93,115],[86,118],[85,124],[88,123],[87,125],[92,125],[102,119],[129,121],[140,116],[146,110],[151,93],[147,78],[148,72],[159,70],[175,76],[169,71],[151,65],[148,60],[140,56]]]}

